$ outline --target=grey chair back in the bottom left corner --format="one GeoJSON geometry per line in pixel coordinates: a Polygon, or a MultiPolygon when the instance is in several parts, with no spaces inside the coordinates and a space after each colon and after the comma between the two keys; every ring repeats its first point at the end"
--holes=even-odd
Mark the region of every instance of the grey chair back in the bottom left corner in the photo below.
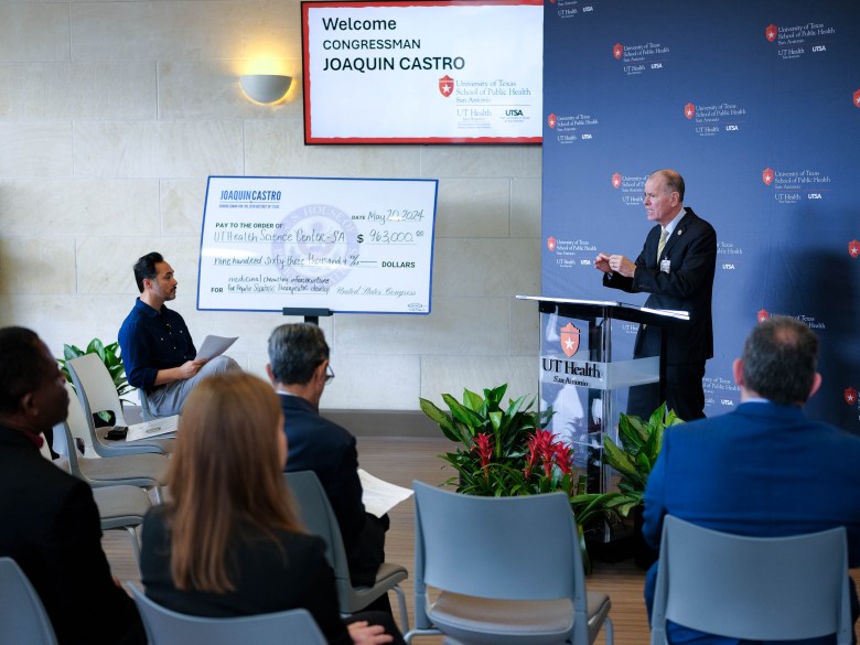
{"type": "Polygon", "coordinates": [[[0,558],[0,643],[57,645],[39,594],[12,558],[0,558]]]}

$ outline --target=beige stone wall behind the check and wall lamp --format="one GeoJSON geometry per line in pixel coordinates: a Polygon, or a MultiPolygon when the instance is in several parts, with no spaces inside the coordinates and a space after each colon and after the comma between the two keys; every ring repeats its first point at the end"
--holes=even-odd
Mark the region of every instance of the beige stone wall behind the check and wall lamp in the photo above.
{"type": "MultiPolygon", "coordinates": [[[[337,378],[326,408],[412,410],[463,387],[537,391],[540,148],[305,147],[295,0],[0,0],[0,325],[116,338],[159,250],[200,342],[264,374],[272,313],[197,312],[209,174],[439,179],[432,313],[321,322],[337,378]],[[261,57],[276,68],[250,68],[261,57]],[[275,107],[238,76],[297,78],[275,107]]],[[[348,101],[348,97],[344,97],[348,101]]],[[[290,319],[295,320],[295,319],[290,319]]]]}

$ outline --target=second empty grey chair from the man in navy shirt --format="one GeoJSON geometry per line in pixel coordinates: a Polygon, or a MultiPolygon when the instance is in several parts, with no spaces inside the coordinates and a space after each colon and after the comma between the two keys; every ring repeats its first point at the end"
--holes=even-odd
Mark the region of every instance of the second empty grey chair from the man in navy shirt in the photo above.
{"type": "MultiPolygon", "coordinates": [[[[71,384],[66,384],[71,390],[71,384]]],[[[69,393],[71,394],[71,393],[69,393]]],[[[76,477],[84,480],[94,488],[100,486],[117,486],[126,484],[151,488],[155,502],[162,501],[161,485],[168,470],[168,458],[163,454],[122,454],[104,459],[87,459],[79,456],[75,440],[85,438],[87,423],[84,410],[78,401],[69,396],[68,417],[54,426],[54,432],[66,437],[68,450],[68,470],[76,477]]]]}

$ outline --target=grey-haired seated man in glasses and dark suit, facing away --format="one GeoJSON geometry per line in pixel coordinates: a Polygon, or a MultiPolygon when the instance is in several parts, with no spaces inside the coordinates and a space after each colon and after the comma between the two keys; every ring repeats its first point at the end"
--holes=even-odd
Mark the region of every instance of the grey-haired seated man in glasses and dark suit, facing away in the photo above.
{"type": "MultiPolygon", "coordinates": [[[[269,337],[266,369],[281,398],[287,470],[316,473],[337,517],[353,584],[373,584],[385,561],[388,516],[378,518],[364,509],[355,437],[320,416],[320,398],[334,378],[322,330],[310,323],[277,327],[269,337]]],[[[383,599],[386,605],[388,599],[383,599]]]]}

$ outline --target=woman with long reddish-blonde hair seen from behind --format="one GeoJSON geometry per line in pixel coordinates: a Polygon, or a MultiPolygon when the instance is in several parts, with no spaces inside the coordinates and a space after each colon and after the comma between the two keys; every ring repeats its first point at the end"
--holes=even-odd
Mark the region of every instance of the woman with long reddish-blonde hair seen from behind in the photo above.
{"type": "Polygon", "coordinates": [[[323,540],[304,533],[283,481],[282,427],[278,396],[256,376],[228,373],[194,388],[171,458],[170,501],[143,522],[147,595],[198,616],[303,608],[331,644],[401,643],[390,616],[340,617],[323,540]]]}

